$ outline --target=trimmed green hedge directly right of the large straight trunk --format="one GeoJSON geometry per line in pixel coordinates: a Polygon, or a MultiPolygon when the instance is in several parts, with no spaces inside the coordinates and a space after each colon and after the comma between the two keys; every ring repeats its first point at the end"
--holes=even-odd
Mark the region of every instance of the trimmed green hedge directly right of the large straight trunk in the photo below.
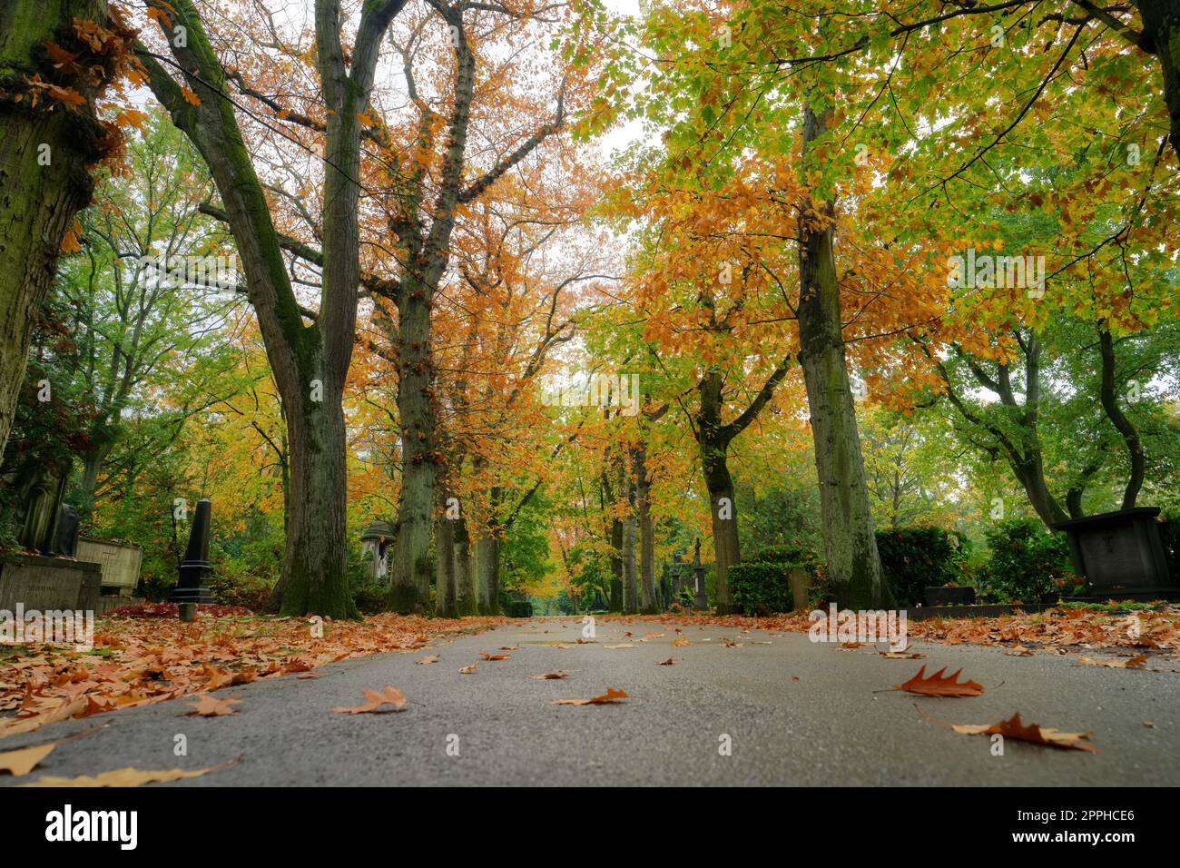
{"type": "Polygon", "coordinates": [[[923,589],[968,585],[970,541],[943,528],[890,528],[877,531],[881,572],[900,607],[923,602],[923,589]]]}

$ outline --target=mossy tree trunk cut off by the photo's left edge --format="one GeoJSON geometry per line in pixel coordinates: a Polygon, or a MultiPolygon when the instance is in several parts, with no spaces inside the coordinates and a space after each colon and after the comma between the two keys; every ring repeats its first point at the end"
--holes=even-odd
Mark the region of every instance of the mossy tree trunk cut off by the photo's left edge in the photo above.
{"type": "MultiPolygon", "coordinates": [[[[58,255],[74,215],[90,204],[86,167],[103,157],[106,135],[94,118],[96,89],[53,68],[45,43],[78,53],[77,66],[110,61],[73,34],[72,19],[107,26],[101,0],[5,0],[0,4],[0,453],[8,443],[17,398],[37,319],[57,272],[58,255]],[[86,102],[70,111],[45,96],[37,107],[26,79],[70,87],[86,102]]],[[[99,73],[103,81],[109,76],[99,73]]]]}

